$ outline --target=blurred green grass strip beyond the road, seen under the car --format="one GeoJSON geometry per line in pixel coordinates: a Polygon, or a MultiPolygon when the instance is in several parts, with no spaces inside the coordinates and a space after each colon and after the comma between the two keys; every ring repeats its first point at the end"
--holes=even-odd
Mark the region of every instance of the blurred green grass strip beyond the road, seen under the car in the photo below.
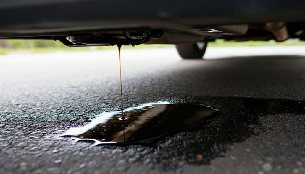
{"type": "MultiPolygon", "coordinates": [[[[208,43],[208,47],[236,47],[236,46],[278,46],[278,45],[305,45],[305,41],[297,39],[289,39],[285,42],[269,41],[225,41],[224,39],[216,39],[208,43]]],[[[124,46],[124,49],[141,49],[141,48],[164,48],[174,47],[174,45],[166,44],[141,44],[139,46],[124,46]]],[[[113,47],[67,47],[59,41],[53,40],[0,40],[0,54],[8,54],[11,52],[26,53],[44,53],[53,51],[90,51],[90,50],[106,50],[117,49],[113,47]]]]}

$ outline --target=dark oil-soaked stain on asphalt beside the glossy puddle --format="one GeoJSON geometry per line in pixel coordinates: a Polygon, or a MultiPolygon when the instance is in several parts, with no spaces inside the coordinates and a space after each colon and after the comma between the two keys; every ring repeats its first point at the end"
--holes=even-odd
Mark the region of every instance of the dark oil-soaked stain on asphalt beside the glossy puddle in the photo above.
{"type": "MultiPolygon", "coordinates": [[[[139,153],[142,155],[138,162],[160,163],[163,170],[175,169],[184,163],[210,164],[212,159],[223,157],[229,145],[259,135],[257,130],[260,129],[261,117],[282,113],[305,114],[305,102],[296,100],[208,97],[204,101],[199,99],[197,103],[210,105],[224,115],[210,119],[208,124],[194,131],[171,134],[155,146],[146,147],[145,153],[139,153]]],[[[138,146],[126,148],[141,149],[138,146]]]]}

